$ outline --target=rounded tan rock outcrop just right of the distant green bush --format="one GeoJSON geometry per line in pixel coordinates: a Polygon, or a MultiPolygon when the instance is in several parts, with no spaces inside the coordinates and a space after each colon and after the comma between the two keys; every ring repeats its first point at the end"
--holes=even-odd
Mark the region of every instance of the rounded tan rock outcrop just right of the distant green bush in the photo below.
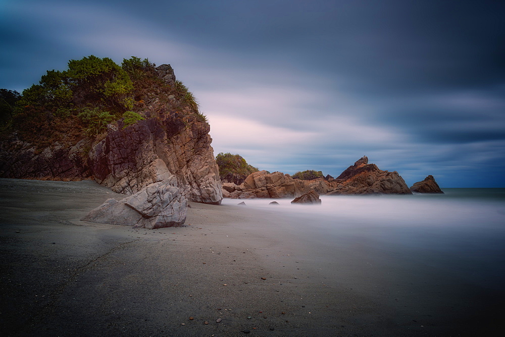
{"type": "Polygon", "coordinates": [[[239,198],[290,198],[308,192],[300,180],[295,180],[281,172],[258,171],[244,180],[239,198]]]}

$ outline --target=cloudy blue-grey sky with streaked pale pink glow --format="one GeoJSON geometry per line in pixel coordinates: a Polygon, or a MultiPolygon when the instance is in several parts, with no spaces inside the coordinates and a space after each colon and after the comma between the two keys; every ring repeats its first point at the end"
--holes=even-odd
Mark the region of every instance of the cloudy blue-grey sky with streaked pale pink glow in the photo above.
{"type": "Polygon", "coordinates": [[[0,88],[95,55],[172,65],[214,154],[505,187],[505,3],[0,0],[0,88]]]}

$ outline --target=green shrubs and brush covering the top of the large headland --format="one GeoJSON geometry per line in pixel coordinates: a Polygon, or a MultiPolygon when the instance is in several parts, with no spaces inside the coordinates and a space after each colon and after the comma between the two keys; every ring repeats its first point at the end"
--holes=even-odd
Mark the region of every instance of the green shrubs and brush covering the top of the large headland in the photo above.
{"type": "Polygon", "coordinates": [[[67,70],[47,71],[21,95],[0,89],[0,133],[40,149],[55,141],[96,140],[115,122],[126,128],[172,114],[184,123],[207,122],[193,94],[175,81],[170,66],[164,69],[173,80],[163,80],[154,64],[137,57],[121,66],[94,55],[70,60],[67,70]]]}

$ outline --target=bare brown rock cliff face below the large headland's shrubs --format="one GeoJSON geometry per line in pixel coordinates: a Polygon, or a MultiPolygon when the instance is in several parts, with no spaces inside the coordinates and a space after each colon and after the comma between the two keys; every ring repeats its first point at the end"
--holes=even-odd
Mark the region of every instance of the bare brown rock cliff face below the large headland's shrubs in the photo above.
{"type": "MultiPolygon", "coordinates": [[[[156,71],[173,87],[175,75],[169,65],[156,71]]],[[[145,103],[142,100],[138,111],[145,120],[127,127],[122,120],[109,124],[100,141],[56,142],[36,150],[12,134],[0,143],[0,177],[94,179],[126,195],[153,183],[176,182],[172,185],[187,200],[220,204],[221,182],[209,124],[179,103],[180,98],[165,94],[168,98],[160,99],[160,90],[154,88],[145,103]]]]}

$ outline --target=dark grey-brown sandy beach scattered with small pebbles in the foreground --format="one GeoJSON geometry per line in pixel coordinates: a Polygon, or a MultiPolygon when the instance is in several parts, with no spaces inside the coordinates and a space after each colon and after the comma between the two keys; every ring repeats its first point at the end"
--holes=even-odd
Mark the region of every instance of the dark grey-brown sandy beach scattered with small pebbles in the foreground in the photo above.
{"type": "Polygon", "coordinates": [[[354,265],[351,246],[274,211],[190,202],[186,226],[157,230],[79,220],[111,197],[124,196],[92,181],[0,179],[3,335],[473,331],[464,315],[426,315],[367,288],[370,266],[354,265]]]}

